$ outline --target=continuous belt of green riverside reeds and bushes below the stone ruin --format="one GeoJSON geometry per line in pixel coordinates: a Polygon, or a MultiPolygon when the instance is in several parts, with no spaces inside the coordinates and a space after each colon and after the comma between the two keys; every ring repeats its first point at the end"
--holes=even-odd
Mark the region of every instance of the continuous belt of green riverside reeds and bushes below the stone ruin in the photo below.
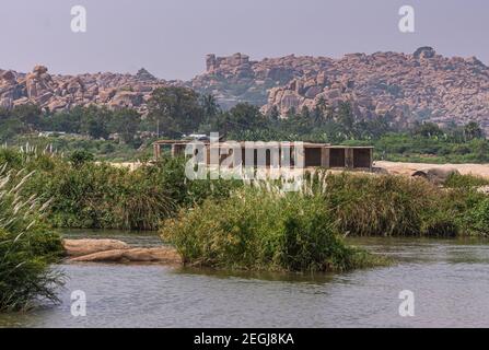
{"type": "Polygon", "coordinates": [[[388,264],[347,235],[489,236],[489,197],[478,190],[489,182],[474,176],[452,175],[442,188],[318,170],[301,191],[281,192],[280,183],[187,180],[183,159],[130,171],[86,152],[24,148],[1,149],[0,164],[0,310],[56,300],[60,276],[48,264],[61,245],[48,225],[160,229],[191,265],[290,271],[388,264]]]}

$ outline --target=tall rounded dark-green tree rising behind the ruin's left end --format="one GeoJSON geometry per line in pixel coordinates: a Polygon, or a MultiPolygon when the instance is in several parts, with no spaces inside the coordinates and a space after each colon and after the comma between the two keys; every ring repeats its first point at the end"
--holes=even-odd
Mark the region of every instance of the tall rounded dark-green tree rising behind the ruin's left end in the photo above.
{"type": "Polygon", "coordinates": [[[160,124],[163,135],[181,137],[198,129],[203,108],[199,95],[187,88],[167,86],[153,91],[148,102],[149,118],[160,124]]]}

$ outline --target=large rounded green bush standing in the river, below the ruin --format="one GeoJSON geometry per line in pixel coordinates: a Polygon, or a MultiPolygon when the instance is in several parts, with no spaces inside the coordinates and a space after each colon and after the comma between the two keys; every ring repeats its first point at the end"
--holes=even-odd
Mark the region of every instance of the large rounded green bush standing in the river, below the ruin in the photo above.
{"type": "Polygon", "coordinates": [[[241,189],[162,225],[185,262],[218,268],[345,271],[381,262],[347,246],[317,196],[241,189]]]}

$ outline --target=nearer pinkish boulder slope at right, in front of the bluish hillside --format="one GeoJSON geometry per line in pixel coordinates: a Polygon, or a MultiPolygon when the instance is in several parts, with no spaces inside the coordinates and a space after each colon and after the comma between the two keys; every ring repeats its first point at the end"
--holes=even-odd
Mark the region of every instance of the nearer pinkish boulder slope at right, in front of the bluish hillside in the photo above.
{"type": "Polygon", "coordinates": [[[322,71],[270,90],[273,106],[333,108],[349,101],[359,118],[389,115],[400,125],[430,119],[440,125],[478,121],[489,129],[489,69],[475,58],[444,58],[431,48],[415,55],[347,55],[322,71]]]}

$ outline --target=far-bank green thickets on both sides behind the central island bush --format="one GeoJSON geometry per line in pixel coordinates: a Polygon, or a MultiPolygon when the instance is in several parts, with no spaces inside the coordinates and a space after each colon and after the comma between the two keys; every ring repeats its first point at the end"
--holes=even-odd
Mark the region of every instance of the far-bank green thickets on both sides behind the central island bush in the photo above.
{"type": "MultiPolygon", "coordinates": [[[[34,172],[25,196],[50,200],[47,220],[58,228],[158,230],[181,210],[208,198],[225,200],[241,180],[188,180],[185,160],[162,158],[130,171],[95,163],[89,153],[69,156],[12,149],[0,150],[0,164],[34,172]]],[[[350,235],[487,235],[485,201],[477,190],[489,182],[454,175],[440,188],[421,178],[391,175],[329,174],[310,176],[325,208],[350,235]]]]}

